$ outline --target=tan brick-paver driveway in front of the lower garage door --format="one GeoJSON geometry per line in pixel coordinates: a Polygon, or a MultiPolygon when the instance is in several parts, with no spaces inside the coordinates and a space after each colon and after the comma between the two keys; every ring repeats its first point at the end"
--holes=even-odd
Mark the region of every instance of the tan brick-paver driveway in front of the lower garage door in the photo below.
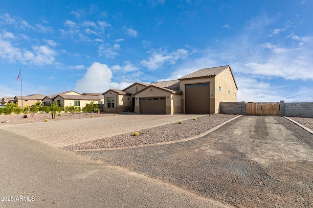
{"type": "MultiPolygon", "coordinates": [[[[197,115],[203,116],[203,115],[197,115]]],[[[0,126],[54,147],[102,139],[122,133],[135,132],[195,117],[193,114],[145,115],[118,114],[116,116],[60,120],[0,126]]]]}

